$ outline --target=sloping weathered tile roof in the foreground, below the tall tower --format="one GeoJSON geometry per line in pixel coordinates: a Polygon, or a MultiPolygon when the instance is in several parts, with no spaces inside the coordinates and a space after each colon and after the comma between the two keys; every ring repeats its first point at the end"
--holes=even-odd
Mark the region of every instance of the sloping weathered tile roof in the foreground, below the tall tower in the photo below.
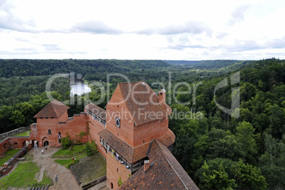
{"type": "Polygon", "coordinates": [[[154,140],[150,169],[141,167],[119,189],[199,189],[166,146],[154,140]]]}

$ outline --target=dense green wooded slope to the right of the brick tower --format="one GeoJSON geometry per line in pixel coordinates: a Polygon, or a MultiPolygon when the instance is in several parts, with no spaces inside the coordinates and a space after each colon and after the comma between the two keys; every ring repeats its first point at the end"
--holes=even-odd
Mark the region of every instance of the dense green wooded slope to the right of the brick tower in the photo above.
{"type": "MultiPolygon", "coordinates": [[[[260,60],[243,65],[223,77],[204,80],[196,104],[172,105],[180,111],[204,113],[207,130],[199,133],[197,121],[175,121],[173,153],[201,189],[284,189],[285,62],[260,60]],[[240,108],[234,118],[213,104],[209,89],[240,71],[240,108]],[[209,95],[207,95],[209,94],[209,95]],[[238,116],[238,115],[237,115],[238,116]],[[185,124],[188,123],[188,124],[185,124]],[[189,126],[191,129],[185,130],[189,126]]],[[[230,108],[231,89],[216,91],[218,104],[230,108]]],[[[213,90],[210,90],[213,93],[213,90]]],[[[187,96],[179,97],[191,101],[187,96]]]]}

